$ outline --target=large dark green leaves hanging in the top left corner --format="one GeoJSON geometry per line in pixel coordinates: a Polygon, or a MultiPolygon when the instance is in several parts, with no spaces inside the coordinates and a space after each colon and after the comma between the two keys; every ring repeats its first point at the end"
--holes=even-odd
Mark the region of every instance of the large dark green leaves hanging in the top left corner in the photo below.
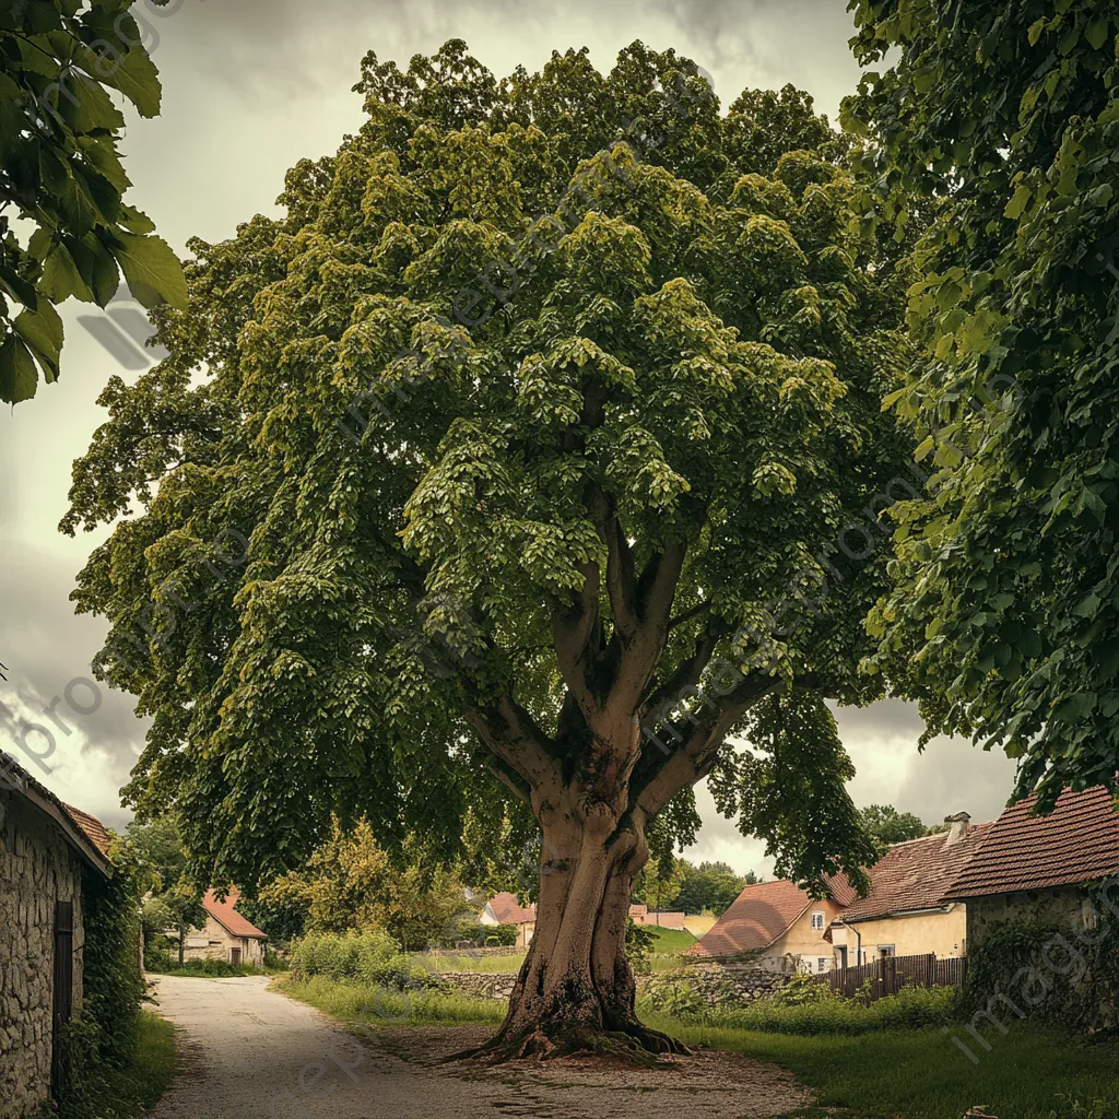
{"type": "MultiPolygon", "coordinates": [[[[152,0],[159,7],[167,0],[152,0]]],[[[0,401],[58,379],[72,295],[104,307],[120,274],[145,307],[186,303],[179,262],[123,201],[124,116],[159,112],[159,74],[130,13],[133,0],[22,0],[0,11],[0,211],[32,225],[26,244],[0,213],[0,401]],[[12,304],[21,308],[15,313],[12,304]],[[38,368],[37,368],[38,367],[38,368]]]]}

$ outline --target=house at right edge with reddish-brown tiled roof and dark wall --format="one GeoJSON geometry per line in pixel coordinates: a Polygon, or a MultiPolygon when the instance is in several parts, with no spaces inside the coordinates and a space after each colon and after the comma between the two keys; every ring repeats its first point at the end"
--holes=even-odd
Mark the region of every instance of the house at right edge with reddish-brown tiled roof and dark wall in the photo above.
{"type": "Polygon", "coordinates": [[[1012,805],[991,825],[948,894],[967,905],[974,950],[1010,921],[1055,924],[1071,933],[1096,928],[1098,906],[1119,913],[1119,883],[1091,883],[1119,873],[1119,812],[1102,787],[1066,789],[1049,816],[1034,816],[1036,797],[1012,805]]]}

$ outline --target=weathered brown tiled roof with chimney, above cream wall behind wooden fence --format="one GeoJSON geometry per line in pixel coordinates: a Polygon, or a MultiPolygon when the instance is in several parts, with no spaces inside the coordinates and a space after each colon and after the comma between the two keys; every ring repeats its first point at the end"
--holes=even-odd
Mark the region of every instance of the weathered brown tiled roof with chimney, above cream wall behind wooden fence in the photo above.
{"type": "Polygon", "coordinates": [[[839,920],[845,923],[872,921],[892,913],[946,905],[949,887],[975,857],[994,826],[977,824],[953,844],[948,844],[948,834],[943,831],[894,844],[871,867],[869,893],[866,897],[855,897],[839,920]]]}

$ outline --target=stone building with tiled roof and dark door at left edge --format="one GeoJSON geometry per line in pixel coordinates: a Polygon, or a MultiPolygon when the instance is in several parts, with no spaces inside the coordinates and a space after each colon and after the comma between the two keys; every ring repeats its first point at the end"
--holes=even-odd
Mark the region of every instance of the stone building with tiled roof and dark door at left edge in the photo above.
{"type": "Polygon", "coordinates": [[[84,995],[87,900],[110,834],[0,752],[0,1119],[49,1107],[84,995]]]}

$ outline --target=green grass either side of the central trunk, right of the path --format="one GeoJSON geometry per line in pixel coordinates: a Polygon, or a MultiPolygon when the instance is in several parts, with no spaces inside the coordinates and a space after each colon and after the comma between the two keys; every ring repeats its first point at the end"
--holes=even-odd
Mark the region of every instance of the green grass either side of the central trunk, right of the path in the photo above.
{"type": "MultiPolygon", "coordinates": [[[[278,980],[286,994],[344,1022],[376,1026],[492,1025],[505,1016],[505,1004],[464,995],[386,996],[370,988],[323,979],[278,980]],[[411,1012],[411,1016],[410,1016],[411,1012]]],[[[999,1119],[1119,1119],[1119,1047],[1092,1044],[1056,1029],[1018,1024],[1005,1036],[987,1031],[987,1052],[959,1026],[902,1028],[891,1025],[902,1006],[884,1010],[852,1008],[867,1017],[858,1034],[790,1034],[743,1028],[750,1008],[714,1012],[684,1022],[640,1007],[655,1028],[693,1045],[743,1053],[791,1070],[818,1093],[822,1108],[846,1108],[847,1119],[956,1119],[984,1104],[999,1119]],[[876,1017],[875,1017],[876,1015],[876,1017]],[[876,1023],[872,1025],[871,1023],[876,1023]],[[951,1037],[970,1043],[979,1056],[972,1063],[951,1037]],[[1065,1098],[1064,1101],[1062,1098],[1065,1098]],[[1078,1100],[1079,1103],[1069,1102],[1078,1100]],[[1093,1109],[1094,1101],[1103,1101],[1093,1109]]],[[[815,1007],[773,1008],[808,1018],[815,1007]]],[[[846,1013],[846,1012],[845,1012],[846,1013]]],[[[756,1019],[755,1019],[756,1021],[756,1019]]],[[[803,1023],[800,1024],[803,1027],[803,1023]]],[[[837,1028],[852,1024],[837,1018],[837,1028]]],[[[822,1115],[824,1112],[814,1111],[822,1115]]]]}

